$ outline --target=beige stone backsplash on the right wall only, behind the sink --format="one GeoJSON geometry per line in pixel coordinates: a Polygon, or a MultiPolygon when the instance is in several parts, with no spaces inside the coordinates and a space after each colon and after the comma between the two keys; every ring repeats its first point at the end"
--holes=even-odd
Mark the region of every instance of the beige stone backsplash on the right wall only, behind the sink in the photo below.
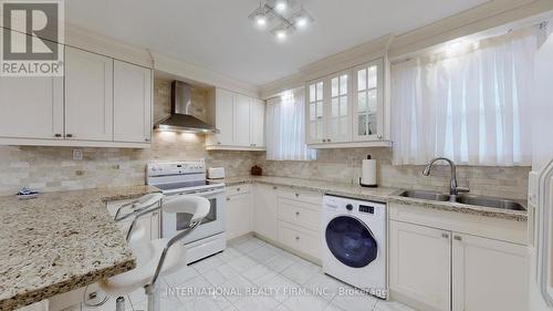
{"type": "MultiPolygon", "coordinates": [[[[449,166],[437,165],[430,176],[422,176],[425,166],[392,165],[390,148],[321,149],[312,162],[274,162],[260,158],[264,175],[335,180],[356,184],[362,160],[371,155],[377,160],[379,186],[422,188],[448,191],[449,166]]],[[[470,187],[476,195],[525,199],[531,167],[458,166],[459,186],[470,187]]]]}

